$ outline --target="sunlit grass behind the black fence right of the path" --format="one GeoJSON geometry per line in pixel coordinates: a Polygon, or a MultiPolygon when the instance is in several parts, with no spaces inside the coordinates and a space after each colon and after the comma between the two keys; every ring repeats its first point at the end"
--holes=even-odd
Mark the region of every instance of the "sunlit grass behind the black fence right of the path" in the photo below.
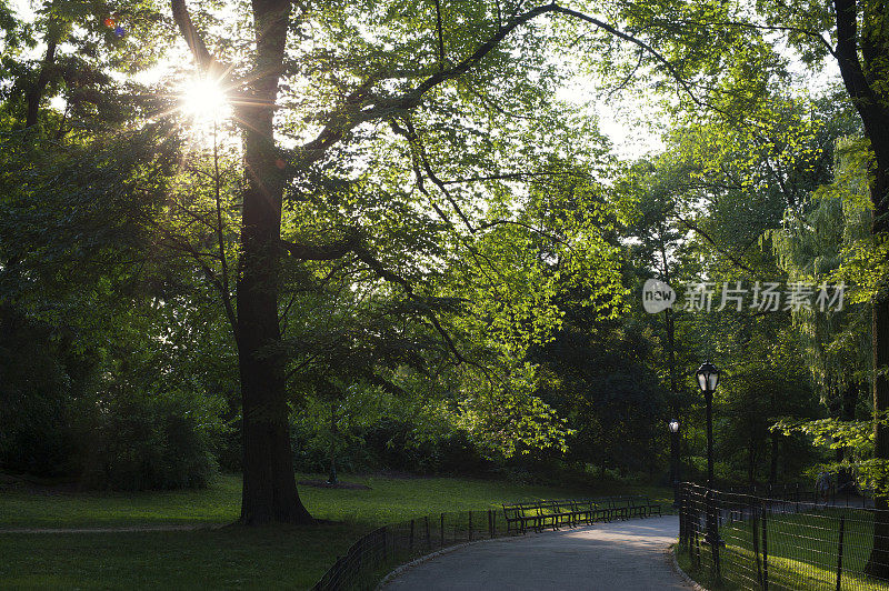
{"type": "MultiPolygon", "coordinates": [[[[839,544],[839,519],[846,515],[842,551],[842,589],[889,591],[889,582],[863,575],[872,547],[873,524],[863,511],[830,509],[813,513],[772,515],[768,520],[769,589],[836,589],[839,544]]],[[[721,552],[722,581],[716,583],[710,572],[710,550],[701,547],[700,570],[687,552],[678,554],[679,565],[711,590],[758,588],[758,568],[753,552],[752,521],[723,525],[726,542],[721,552]]],[[[761,522],[759,524],[761,540],[761,522]]],[[[759,559],[762,560],[762,549],[759,559]]]]}

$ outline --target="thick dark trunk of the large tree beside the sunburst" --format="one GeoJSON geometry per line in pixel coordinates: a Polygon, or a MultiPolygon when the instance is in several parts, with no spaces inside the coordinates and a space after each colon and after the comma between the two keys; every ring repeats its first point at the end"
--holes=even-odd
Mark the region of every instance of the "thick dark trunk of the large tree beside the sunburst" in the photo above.
{"type": "Polygon", "coordinates": [[[253,0],[257,62],[236,112],[243,129],[243,192],[238,281],[238,362],[243,403],[241,522],[307,523],[297,493],[288,428],[284,357],[278,323],[283,181],[272,134],[290,2],[253,0]]]}

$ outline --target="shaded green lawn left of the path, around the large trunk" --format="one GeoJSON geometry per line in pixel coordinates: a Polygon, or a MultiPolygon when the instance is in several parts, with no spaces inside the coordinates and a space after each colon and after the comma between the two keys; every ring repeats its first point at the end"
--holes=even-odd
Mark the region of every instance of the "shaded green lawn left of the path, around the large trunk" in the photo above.
{"type": "MultiPolygon", "coordinates": [[[[301,474],[300,479],[322,478],[301,474]]],[[[344,477],[370,490],[300,487],[307,528],[114,533],[0,533],[0,589],[288,588],[313,584],[338,554],[383,523],[503,501],[640,492],[663,503],[669,489],[578,489],[456,478],[344,477]]],[[[238,517],[240,479],[200,491],[0,492],[0,528],[96,528],[226,523],[238,517]]],[[[667,509],[665,507],[665,509],[667,509]]]]}

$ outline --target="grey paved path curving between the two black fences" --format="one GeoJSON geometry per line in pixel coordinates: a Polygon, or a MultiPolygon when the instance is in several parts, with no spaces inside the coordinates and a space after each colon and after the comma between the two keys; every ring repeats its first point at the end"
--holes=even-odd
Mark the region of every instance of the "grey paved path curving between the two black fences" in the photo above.
{"type": "Polygon", "coordinates": [[[667,554],[678,534],[676,515],[529,533],[427,560],[384,589],[690,589],[672,571],[667,554]]]}

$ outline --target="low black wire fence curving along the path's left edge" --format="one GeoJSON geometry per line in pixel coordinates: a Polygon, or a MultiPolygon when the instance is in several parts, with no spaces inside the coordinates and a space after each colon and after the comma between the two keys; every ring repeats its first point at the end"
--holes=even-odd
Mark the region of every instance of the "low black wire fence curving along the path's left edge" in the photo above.
{"type": "Polygon", "coordinates": [[[503,513],[498,514],[493,509],[438,513],[390,523],[353,543],[312,590],[372,589],[398,564],[460,543],[503,535],[507,535],[503,513]]]}

